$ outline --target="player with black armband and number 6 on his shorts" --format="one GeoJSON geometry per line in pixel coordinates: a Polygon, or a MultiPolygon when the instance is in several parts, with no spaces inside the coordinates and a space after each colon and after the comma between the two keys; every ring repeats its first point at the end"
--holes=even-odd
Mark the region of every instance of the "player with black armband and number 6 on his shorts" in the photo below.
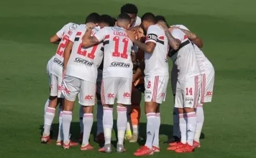
{"type": "Polygon", "coordinates": [[[133,32],[129,38],[140,49],[145,51],[144,83],[145,113],[147,117],[146,143],[134,155],[143,156],[159,152],[160,104],[164,101],[168,84],[168,41],[164,30],[156,25],[155,16],[145,13],[141,18],[141,27],[146,32],[146,41],[135,39],[133,32]]]}

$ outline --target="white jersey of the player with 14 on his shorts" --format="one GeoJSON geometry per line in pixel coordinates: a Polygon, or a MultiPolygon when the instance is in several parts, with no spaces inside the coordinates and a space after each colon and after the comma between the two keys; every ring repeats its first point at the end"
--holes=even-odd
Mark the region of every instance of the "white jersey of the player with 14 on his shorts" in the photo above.
{"type": "Polygon", "coordinates": [[[178,49],[178,51],[171,50],[170,58],[178,69],[178,80],[186,80],[190,77],[200,75],[201,71],[198,65],[196,52],[192,43],[188,40],[185,33],[180,29],[173,29],[171,34],[174,38],[181,41],[181,45],[187,43],[185,46],[178,49]]]}

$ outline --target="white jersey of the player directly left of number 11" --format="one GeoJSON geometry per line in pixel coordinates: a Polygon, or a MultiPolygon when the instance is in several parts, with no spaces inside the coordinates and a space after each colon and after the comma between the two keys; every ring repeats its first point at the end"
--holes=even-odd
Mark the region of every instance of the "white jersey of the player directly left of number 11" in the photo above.
{"type": "MultiPolygon", "coordinates": [[[[67,64],[66,74],[80,78],[81,80],[96,83],[98,74],[97,68],[103,58],[103,44],[99,43],[89,48],[82,47],[82,36],[86,33],[86,30],[86,24],[80,24],[69,39],[74,44],[67,64]]],[[[99,27],[94,28],[92,35],[99,30],[99,27]]]]}

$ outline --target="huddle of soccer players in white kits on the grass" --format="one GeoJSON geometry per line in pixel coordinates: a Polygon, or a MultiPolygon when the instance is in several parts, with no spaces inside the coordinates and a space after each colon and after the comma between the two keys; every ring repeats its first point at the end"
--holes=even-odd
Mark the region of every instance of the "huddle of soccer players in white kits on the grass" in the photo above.
{"type": "Polygon", "coordinates": [[[169,26],[163,16],[137,16],[134,4],[125,4],[117,19],[91,13],[85,24],[68,23],[53,37],[56,54],[47,64],[50,96],[45,104],[41,142],[49,143],[57,106],[59,131],[56,145],[69,149],[70,125],[76,96],[80,106],[81,150],[92,150],[89,137],[97,103],[98,151],[112,152],[113,105],[117,104],[117,152],[126,151],[124,139],[137,142],[141,95],[147,118],[145,145],[136,156],[160,152],[160,104],[169,80],[172,59],[174,133],[167,150],[193,152],[200,147],[203,103],[210,102],[215,71],[201,51],[202,40],[184,25],[169,26]]]}

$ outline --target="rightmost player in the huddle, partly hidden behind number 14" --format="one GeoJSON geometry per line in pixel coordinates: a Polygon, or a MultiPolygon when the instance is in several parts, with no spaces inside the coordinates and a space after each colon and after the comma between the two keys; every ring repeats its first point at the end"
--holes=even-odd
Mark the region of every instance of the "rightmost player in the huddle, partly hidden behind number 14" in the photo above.
{"type": "MultiPolygon", "coordinates": [[[[194,147],[200,147],[200,135],[203,128],[204,122],[204,111],[203,111],[203,103],[204,102],[211,102],[212,98],[212,91],[214,89],[214,77],[215,77],[215,70],[214,66],[212,66],[211,62],[205,57],[203,51],[200,49],[203,46],[202,40],[197,37],[194,33],[191,33],[184,25],[176,24],[172,25],[172,28],[178,28],[183,31],[190,40],[193,42],[196,57],[199,63],[199,68],[202,74],[202,85],[201,85],[201,92],[200,97],[197,104],[197,128],[196,134],[194,139],[194,147]],[[192,36],[191,36],[192,34],[192,36]]],[[[177,69],[176,69],[177,70],[177,69]]],[[[175,69],[174,69],[175,71],[175,69]]],[[[175,133],[179,133],[179,128],[174,128],[175,133]]]]}

